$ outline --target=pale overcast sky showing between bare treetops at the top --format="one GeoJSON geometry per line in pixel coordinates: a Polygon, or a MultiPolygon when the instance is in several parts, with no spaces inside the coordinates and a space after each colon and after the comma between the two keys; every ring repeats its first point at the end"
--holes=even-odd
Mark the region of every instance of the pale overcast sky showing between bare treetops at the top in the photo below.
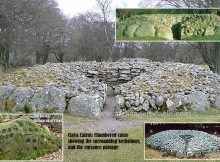
{"type": "MultiPolygon", "coordinates": [[[[96,11],[95,0],[56,0],[67,16],[74,16],[86,11],[96,11]]],[[[137,8],[141,0],[112,0],[112,7],[115,8],[137,8]]]]}

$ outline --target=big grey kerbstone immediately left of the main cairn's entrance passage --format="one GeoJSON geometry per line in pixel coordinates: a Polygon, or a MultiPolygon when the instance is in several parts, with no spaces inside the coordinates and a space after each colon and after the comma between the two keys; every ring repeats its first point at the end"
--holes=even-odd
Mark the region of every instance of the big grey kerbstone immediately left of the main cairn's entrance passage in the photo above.
{"type": "Polygon", "coordinates": [[[101,105],[94,97],[87,94],[80,94],[79,96],[70,99],[68,104],[68,112],[73,115],[86,116],[91,118],[100,118],[101,105]]]}

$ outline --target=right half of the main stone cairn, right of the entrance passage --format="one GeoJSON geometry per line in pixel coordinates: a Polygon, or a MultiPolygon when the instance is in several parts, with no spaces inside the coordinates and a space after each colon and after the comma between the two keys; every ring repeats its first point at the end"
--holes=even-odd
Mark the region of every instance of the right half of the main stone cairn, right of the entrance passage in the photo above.
{"type": "Polygon", "coordinates": [[[220,107],[220,76],[207,68],[182,63],[145,63],[145,73],[115,88],[117,110],[205,111],[220,107]],[[120,105],[120,106],[119,106],[120,105]]]}

